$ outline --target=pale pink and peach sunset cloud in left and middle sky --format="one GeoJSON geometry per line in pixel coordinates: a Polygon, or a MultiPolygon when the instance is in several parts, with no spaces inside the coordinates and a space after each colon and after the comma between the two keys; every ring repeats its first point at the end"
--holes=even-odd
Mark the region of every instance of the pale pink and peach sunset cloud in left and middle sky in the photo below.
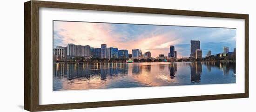
{"type": "Polygon", "coordinates": [[[101,44],[107,44],[107,47],[116,46],[118,49],[127,49],[131,53],[132,49],[141,49],[142,53],[151,52],[152,57],[164,53],[168,56],[170,45],[175,45],[181,39],[175,39],[171,32],[156,34],[155,29],[152,32],[143,32],[134,39],[123,41],[124,35],[111,32],[113,27],[105,23],[88,22],[61,22],[54,21],[54,31],[59,31],[63,37],[62,45],[74,43],[76,45],[90,45],[91,47],[100,47],[101,44]]]}

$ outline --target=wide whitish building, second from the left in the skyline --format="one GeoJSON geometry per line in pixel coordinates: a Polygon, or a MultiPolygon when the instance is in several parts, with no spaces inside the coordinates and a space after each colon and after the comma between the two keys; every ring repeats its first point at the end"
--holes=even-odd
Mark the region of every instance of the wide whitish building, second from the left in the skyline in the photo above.
{"type": "Polygon", "coordinates": [[[67,56],[90,56],[90,46],[67,44],[67,56]]]}

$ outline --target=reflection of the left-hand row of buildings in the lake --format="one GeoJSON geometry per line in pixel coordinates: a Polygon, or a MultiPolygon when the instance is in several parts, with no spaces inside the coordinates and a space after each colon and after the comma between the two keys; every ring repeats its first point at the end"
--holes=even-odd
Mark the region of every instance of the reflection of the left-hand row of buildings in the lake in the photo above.
{"type": "Polygon", "coordinates": [[[55,63],[54,77],[90,79],[99,77],[106,80],[114,75],[123,76],[128,73],[128,65],[121,63],[55,63]]]}

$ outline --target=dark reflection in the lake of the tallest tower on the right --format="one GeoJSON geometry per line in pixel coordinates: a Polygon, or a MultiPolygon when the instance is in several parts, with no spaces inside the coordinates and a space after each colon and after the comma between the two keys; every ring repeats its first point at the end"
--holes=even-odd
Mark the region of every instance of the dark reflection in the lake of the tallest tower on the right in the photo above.
{"type": "Polygon", "coordinates": [[[191,82],[200,82],[202,74],[202,63],[191,62],[190,63],[191,82]]]}

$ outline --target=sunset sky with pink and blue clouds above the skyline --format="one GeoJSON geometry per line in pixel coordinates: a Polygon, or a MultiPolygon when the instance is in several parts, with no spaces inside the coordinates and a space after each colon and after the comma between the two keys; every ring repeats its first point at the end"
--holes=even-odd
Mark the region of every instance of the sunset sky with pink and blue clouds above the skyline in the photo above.
{"type": "Polygon", "coordinates": [[[53,38],[54,47],[73,43],[100,48],[107,44],[128,53],[132,49],[141,49],[143,54],[149,51],[151,57],[168,56],[170,45],[175,46],[178,58],[189,57],[190,40],[200,40],[203,57],[209,50],[212,55],[222,53],[223,46],[229,52],[236,48],[234,28],[54,21],[53,38]]]}

